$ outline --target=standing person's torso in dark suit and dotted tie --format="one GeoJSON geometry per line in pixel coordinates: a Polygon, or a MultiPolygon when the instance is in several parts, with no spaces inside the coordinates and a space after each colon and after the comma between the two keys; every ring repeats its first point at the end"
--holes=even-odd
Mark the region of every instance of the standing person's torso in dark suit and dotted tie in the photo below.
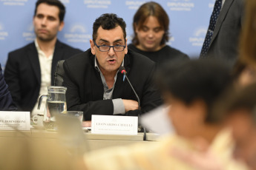
{"type": "Polygon", "coordinates": [[[222,58],[233,65],[238,57],[244,0],[216,0],[200,58],[222,58]]]}

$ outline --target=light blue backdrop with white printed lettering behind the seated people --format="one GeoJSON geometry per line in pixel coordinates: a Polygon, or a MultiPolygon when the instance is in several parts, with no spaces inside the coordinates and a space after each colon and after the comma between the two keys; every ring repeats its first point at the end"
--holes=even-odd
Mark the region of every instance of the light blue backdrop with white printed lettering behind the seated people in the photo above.
{"type": "MultiPolygon", "coordinates": [[[[62,0],[66,6],[65,27],[60,41],[87,50],[93,21],[102,13],[116,13],[127,24],[128,43],[133,35],[132,18],[142,0],[62,0]]],[[[203,45],[214,0],[157,0],[170,18],[172,47],[197,57],[203,45]]],[[[0,63],[7,54],[34,40],[33,13],[36,0],[0,0],[0,63]]]]}

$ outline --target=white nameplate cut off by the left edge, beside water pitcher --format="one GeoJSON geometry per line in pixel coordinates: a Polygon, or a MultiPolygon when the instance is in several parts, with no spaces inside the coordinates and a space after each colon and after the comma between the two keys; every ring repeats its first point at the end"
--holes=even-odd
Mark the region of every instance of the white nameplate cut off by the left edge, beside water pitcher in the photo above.
{"type": "Polygon", "coordinates": [[[30,130],[30,112],[0,112],[0,130],[30,130]]]}

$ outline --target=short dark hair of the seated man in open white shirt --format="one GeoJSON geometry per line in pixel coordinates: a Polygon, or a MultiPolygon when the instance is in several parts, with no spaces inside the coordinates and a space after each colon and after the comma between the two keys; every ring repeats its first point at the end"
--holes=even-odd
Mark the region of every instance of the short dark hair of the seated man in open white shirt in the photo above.
{"type": "Polygon", "coordinates": [[[65,12],[66,12],[65,6],[59,0],[38,0],[38,1],[36,1],[36,9],[35,9],[34,16],[36,16],[37,7],[39,6],[39,4],[42,4],[42,3],[58,7],[59,8],[59,21],[62,22],[64,20],[64,16],[65,16],[65,12]]]}

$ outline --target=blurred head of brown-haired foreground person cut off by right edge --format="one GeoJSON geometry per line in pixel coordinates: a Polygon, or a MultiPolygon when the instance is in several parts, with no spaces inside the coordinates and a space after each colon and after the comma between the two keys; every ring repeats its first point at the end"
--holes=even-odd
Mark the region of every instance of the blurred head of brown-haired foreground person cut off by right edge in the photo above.
{"type": "Polygon", "coordinates": [[[234,157],[256,169],[256,84],[230,92],[223,103],[235,141],[234,157]]]}

